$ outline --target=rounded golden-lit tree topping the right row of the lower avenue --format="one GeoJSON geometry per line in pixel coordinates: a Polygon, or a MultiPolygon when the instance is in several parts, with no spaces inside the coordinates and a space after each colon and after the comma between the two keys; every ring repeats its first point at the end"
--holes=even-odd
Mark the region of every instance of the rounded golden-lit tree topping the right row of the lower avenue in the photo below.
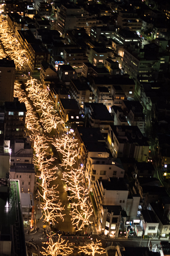
{"type": "Polygon", "coordinates": [[[61,138],[57,138],[53,145],[63,155],[62,166],[73,166],[76,163],[76,158],[79,155],[80,148],[78,147],[78,141],[68,135],[63,135],[61,138]]]}

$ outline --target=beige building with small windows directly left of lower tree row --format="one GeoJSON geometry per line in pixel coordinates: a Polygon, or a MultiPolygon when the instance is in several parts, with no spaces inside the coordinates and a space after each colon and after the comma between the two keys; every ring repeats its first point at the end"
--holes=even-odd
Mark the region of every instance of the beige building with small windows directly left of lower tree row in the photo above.
{"type": "Polygon", "coordinates": [[[33,163],[16,163],[10,168],[13,180],[19,180],[21,193],[34,193],[35,168],[33,163]]]}

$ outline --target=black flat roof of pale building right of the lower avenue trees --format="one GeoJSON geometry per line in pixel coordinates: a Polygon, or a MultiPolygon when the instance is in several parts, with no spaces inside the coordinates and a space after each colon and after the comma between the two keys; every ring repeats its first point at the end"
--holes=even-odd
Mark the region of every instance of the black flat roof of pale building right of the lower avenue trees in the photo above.
{"type": "Polygon", "coordinates": [[[108,180],[99,180],[99,184],[102,183],[103,188],[106,190],[128,190],[127,184],[124,180],[124,178],[109,178],[108,180]]]}

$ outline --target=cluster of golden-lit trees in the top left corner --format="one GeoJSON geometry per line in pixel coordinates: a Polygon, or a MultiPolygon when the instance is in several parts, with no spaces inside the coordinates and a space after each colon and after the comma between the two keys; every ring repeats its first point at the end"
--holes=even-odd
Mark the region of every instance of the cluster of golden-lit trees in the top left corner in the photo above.
{"type": "Polygon", "coordinates": [[[15,68],[21,69],[23,65],[28,62],[27,51],[22,49],[3,15],[0,16],[0,37],[5,50],[5,53],[4,51],[0,52],[0,54],[2,53],[2,55],[0,55],[1,58],[9,56],[14,60],[15,68]]]}

